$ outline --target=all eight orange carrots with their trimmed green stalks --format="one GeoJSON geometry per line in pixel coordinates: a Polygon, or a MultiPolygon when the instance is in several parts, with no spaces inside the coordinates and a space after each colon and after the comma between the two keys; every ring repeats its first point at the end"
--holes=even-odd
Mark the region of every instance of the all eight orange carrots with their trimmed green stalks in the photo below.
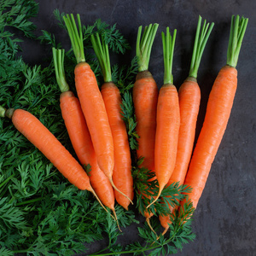
{"type": "MultiPolygon", "coordinates": [[[[61,114],[80,164],[31,113],[21,109],[6,110],[0,106],[0,116],[12,119],[15,127],[71,183],[79,189],[92,192],[102,207],[113,211],[117,220],[114,201],[128,209],[134,193],[129,141],[122,119],[120,92],[112,81],[108,44],[99,34],[91,36],[103,73],[104,84],[100,90],[95,74],[85,61],[79,15],[77,22],[73,15],[64,16],[64,21],[77,60],[74,73],[78,97],[69,90],[65,78],[64,49],[53,49],[55,74],[61,90],[61,114]]],[[[212,86],[205,121],[193,151],[201,101],[197,73],[212,27],[213,23],[210,25],[205,20],[201,29],[201,16],[199,17],[189,77],[179,90],[173,85],[172,75],[176,30],[172,36],[169,27],[166,34],[162,32],[165,76],[164,84],[159,90],[148,71],[158,24],[146,26],[143,36],[142,26],[138,29],[136,52],[139,73],[133,87],[139,136],[137,157],[143,157],[143,167],[154,172],[154,179],[159,183],[158,195],[151,199],[148,207],[159,200],[166,185],[177,182],[193,189],[188,200],[196,207],[224,135],[236,93],[236,64],[247,19],[232,16],[227,64],[220,70],[212,86]]],[[[184,203],[185,201],[181,202],[181,210],[184,203]]],[[[170,206],[170,215],[160,216],[160,223],[165,228],[163,234],[168,230],[169,224],[172,224],[171,214],[175,210],[177,207],[170,206]]],[[[142,213],[149,224],[153,213],[142,213]]]]}

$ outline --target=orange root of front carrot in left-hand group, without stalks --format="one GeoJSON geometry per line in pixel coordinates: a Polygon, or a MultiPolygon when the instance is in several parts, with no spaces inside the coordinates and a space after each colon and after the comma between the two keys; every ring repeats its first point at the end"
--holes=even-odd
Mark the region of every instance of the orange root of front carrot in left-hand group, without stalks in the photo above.
{"type": "Polygon", "coordinates": [[[90,131],[98,164],[105,175],[112,179],[113,137],[95,74],[86,62],[80,62],[75,67],[74,73],[76,90],[90,131]]]}

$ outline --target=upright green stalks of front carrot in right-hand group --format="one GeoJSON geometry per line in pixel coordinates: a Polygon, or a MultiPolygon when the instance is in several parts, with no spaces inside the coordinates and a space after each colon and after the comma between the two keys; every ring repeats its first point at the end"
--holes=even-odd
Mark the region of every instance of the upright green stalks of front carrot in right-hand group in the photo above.
{"type": "Polygon", "coordinates": [[[173,60],[176,33],[177,33],[177,30],[175,29],[173,31],[173,36],[171,36],[168,26],[166,27],[166,35],[164,32],[162,32],[163,54],[164,54],[164,65],[165,65],[164,84],[173,84],[172,60],[173,60]]]}

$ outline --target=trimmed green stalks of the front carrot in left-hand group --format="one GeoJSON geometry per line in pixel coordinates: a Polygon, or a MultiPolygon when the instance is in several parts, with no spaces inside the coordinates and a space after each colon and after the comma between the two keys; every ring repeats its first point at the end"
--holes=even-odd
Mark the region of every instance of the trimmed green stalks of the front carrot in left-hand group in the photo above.
{"type": "Polygon", "coordinates": [[[67,32],[68,32],[68,35],[72,44],[72,48],[73,48],[73,53],[77,59],[77,62],[79,63],[79,62],[85,61],[84,38],[83,38],[80,15],[79,14],[77,15],[79,27],[76,24],[73,14],[64,16],[63,20],[67,27],[67,32]]]}

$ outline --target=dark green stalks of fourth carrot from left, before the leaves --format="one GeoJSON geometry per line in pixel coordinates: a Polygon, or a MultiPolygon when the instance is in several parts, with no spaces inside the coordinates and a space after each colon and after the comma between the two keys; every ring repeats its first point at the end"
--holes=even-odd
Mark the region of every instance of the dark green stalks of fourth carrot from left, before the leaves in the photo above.
{"type": "Polygon", "coordinates": [[[104,82],[105,83],[112,82],[108,44],[106,44],[103,36],[101,40],[98,33],[96,33],[96,37],[92,34],[90,39],[91,39],[92,47],[96,53],[96,57],[102,69],[104,82]]]}

